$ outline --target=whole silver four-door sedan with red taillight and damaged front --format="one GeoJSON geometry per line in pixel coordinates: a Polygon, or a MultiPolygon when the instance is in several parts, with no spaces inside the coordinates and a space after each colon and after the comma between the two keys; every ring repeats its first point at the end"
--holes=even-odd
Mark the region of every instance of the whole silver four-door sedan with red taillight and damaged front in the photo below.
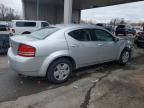
{"type": "Polygon", "coordinates": [[[131,44],[98,26],[57,25],[11,37],[8,57],[20,74],[47,76],[50,82],[62,83],[80,67],[113,60],[126,64],[131,44]]]}

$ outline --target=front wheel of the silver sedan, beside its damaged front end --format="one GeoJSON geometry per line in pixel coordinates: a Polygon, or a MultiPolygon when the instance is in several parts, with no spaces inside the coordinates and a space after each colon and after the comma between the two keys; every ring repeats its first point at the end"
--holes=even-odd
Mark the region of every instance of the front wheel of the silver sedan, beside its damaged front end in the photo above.
{"type": "Polygon", "coordinates": [[[131,51],[125,49],[122,51],[120,58],[119,58],[119,64],[120,65],[126,65],[131,59],[131,51]]]}

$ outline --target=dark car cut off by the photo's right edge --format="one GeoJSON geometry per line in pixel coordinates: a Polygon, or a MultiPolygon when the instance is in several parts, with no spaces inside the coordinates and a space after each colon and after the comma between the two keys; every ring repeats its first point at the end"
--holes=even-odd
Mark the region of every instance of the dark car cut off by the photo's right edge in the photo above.
{"type": "Polygon", "coordinates": [[[137,33],[134,42],[138,47],[144,47],[144,32],[137,33]]]}

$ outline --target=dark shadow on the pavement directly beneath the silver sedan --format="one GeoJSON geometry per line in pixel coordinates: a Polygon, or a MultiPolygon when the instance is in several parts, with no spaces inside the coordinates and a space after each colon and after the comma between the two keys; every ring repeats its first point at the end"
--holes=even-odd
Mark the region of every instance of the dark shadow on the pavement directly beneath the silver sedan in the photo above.
{"type": "Polygon", "coordinates": [[[132,67],[131,65],[121,66],[117,64],[116,62],[108,62],[108,63],[98,64],[98,65],[92,65],[92,66],[80,68],[80,69],[73,71],[69,80],[62,84],[52,84],[45,77],[25,77],[25,76],[22,76],[22,77],[17,76],[17,77],[20,80],[22,80],[25,84],[36,83],[38,86],[46,85],[47,89],[56,89],[58,87],[68,86],[72,84],[73,82],[81,80],[83,78],[90,77],[91,74],[93,73],[104,74],[107,71],[114,71],[117,69],[134,70],[135,68],[132,67]]]}

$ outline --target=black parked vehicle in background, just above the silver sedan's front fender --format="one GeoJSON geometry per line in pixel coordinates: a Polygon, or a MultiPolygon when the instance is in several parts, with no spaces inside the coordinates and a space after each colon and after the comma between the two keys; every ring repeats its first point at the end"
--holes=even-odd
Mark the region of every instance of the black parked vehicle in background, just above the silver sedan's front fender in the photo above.
{"type": "Polygon", "coordinates": [[[128,34],[135,35],[136,30],[130,25],[121,24],[117,26],[115,34],[116,35],[123,34],[124,36],[127,36],[128,34]]]}

